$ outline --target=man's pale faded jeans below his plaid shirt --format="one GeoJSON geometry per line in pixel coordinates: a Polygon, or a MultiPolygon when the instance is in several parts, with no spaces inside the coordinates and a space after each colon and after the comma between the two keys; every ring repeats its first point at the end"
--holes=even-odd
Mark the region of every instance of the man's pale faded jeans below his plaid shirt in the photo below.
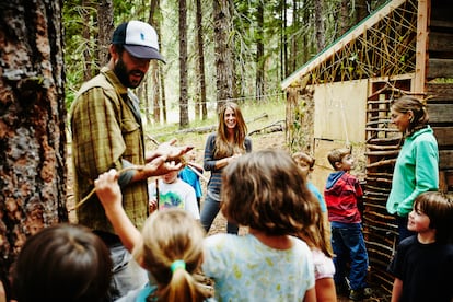
{"type": "Polygon", "coordinates": [[[148,272],[132,258],[121,244],[108,246],[113,262],[113,277],[108,292],[109,301],[116,301],[127,292],[142,288],[148,282],[148,272]]]}

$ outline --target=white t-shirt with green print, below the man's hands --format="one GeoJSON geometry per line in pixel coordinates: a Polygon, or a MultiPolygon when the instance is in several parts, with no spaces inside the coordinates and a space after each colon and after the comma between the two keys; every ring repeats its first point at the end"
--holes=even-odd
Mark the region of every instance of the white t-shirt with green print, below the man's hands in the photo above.
{"type": "MultiPolygon", "coordinates": [[[[148,184],[150,198],[155,198],[155,183],[148,184]]],[[[171,184],[159,179],[159,210],[177,207],[189,212],[195,219],[200,219],[195,189],[187,183],[176,178],[171,184]]]]}

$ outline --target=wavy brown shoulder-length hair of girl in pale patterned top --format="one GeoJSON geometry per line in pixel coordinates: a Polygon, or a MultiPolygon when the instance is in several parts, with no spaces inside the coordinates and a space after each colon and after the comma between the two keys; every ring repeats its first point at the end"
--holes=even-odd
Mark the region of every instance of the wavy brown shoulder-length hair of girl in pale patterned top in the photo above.
{"type": "Polygon", "coordinates": [[[317,200],[289,153],[242,155],[222,174],[222,213],[268,235],[297,234],[315,221],[317,200]]]}

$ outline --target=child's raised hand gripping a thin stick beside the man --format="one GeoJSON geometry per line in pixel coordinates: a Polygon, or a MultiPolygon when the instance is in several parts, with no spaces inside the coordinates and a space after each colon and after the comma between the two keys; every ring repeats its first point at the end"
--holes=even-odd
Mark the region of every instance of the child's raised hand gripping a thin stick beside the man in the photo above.
{"type": "Polygon", "coordinates": [[[94,187],[104,209],[107,210],[115,205],[121,206],[123,194],[118,185],[118,172],[115,169],[101,174],[94,181],[94,187]]]}

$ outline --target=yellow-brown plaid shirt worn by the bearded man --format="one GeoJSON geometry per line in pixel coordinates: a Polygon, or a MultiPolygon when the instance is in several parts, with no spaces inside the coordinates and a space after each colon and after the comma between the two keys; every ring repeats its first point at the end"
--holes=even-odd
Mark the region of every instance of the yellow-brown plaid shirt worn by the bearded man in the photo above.
{"type": "MultiPolygon", "coordinates": [[[[71,131],[76,204],[93,189],[100,174],[121,170],[125,161],[146,163],[138,98],[107,67],[80,89],[71,108],[71,131]]],[[[128,184],[121,191],[126,213],[140,230],[148,217],[147,181],[128,184]]],[[[115,233],[95,194],[77,216],[83,225],[115,233]]]]}

